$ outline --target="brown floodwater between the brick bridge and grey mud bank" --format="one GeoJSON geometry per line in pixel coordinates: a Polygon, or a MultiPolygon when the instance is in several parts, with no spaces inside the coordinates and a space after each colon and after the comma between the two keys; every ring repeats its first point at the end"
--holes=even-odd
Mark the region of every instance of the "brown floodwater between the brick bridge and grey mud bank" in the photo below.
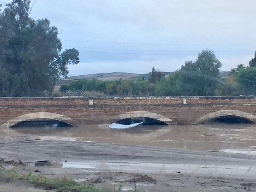
{"type": "Polygon", "coordinates": [[[128,129],[111,129],[107,124],[79,128],[22,127],[2,129],[0,135],[256,154],[256,124],[245,123],[194,126],[138,125],[128,129]]]}

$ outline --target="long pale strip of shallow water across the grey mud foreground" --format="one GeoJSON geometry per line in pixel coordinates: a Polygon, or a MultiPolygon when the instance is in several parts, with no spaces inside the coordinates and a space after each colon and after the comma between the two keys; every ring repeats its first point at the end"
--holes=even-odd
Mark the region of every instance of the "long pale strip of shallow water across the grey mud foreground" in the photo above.
{"type": "MultiPolygon", "coordinates": [[[[237,172],[238,175],[254,175],[256,168],[248,166],[234,166],[234,165],[203,165],[203,164],[182,164],[182,163],[172,163],[164,164],[165,173],[177,173],[182,172],[183,174],[191,173],[200,173],[203,175],[211,174],[221,174],[230,175],[233,172],[237,172]],[[248,171],[249,170],[249,171],[248,171]]],[[[149,174],[152,172],[158,173],[159,170],[163,167],[162,163],[138,163],[138,162],[105,162],[105,166],[108,168],[108,171],[120,171],[132,173],[134,170],[137,170],[138,173],[143,172],[144,174],[149,174]],[[157,170],[157,171],[156,171],[157,170]]],[[[70,162],[63,163],[63,168],[82,168],[82,169],[93,169],[94,171],[101,172],[102,164],[101,162],[91,162],[91,163],[82,163],[82,162],[70,162]]],[[[88,170],[87,170],[88,171],[88,170]]],[[[142,183],[142,185],[144,185],[142,183]]],[[[146,184],[147,185],[147,184],[146,184]]]]}

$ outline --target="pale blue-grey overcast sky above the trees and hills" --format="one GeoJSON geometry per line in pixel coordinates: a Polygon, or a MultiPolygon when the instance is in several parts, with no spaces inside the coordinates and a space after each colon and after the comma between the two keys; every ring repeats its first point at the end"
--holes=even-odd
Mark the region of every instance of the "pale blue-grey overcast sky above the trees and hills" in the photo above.
{"type": "MultiPolygon", "coordinates": [[[[11,0],[0,0],[9,3],[11,0]]],[[[33,2],[33,0],[32,0],[33,2]]],[[[229,71],[256,50],[255,0],[36,0],[31,17],[79,50],[69,76],[180,69],[204,49],[229,71]]]]}

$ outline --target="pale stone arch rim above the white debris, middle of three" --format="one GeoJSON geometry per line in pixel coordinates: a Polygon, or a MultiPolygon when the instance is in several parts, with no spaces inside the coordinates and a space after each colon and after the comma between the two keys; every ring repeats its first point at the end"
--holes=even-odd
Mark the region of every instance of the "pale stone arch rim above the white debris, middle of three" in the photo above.
{"type": "Polygon", "coordinates": [[[151,119],[156,119],[158,121],[161,121],[163,123],[166,123],[168,125],[170,124],[175,124],[173,123],[173,120],[157,114],[157,113],[152,113],[152,112],[148,112],[148,111],[131,111],[131,112],[126,112],[126,113],[122,113],[120,115],[116,115],[114,116],[112,119],[114,122],[118,121],[118,120],[122,120],[122,119],[127,119],[127,118],[133,118],[133,117],[148,117],[151,119]]]}

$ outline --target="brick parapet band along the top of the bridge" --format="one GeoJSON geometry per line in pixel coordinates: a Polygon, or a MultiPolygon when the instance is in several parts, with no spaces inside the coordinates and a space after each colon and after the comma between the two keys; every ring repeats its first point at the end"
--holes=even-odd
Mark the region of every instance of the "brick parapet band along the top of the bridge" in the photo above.
{"type": "Polygon", "coordinates": [[[194,97],[0,97],[0,107],[97,105],[255,105],[255,96],[194,97]]]}

